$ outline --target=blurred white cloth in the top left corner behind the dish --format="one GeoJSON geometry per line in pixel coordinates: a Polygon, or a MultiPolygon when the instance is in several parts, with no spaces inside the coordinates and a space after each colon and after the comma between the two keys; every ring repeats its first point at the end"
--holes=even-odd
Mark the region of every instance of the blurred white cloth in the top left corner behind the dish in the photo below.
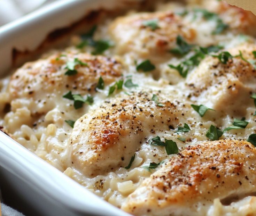
{"type": "Polygon", "coordinates": [[[54,0],[0,0],[0,26],[54,0]]]}

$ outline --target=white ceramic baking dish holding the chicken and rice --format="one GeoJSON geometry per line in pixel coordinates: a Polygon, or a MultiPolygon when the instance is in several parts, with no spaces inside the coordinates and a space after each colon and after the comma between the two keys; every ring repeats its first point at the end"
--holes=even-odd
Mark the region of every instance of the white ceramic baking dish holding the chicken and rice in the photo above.
{"type": "MultiPolygon", "coordinates": [[[[131,1],[131,0],[130,0],[131,1]]],[[[134,0],[133,0],[134,1],[134,0]]],[[[0,28],[0,76],[10,72],[12,50],[33,51],[56,28],[76,22],[97,8],[124,1],[61,0],[0,28]]],[[[125,1],[127,3],[127,1],[125,1]]],[[[34,215],[128,215],[0,131],[0,185],[34,215]]]]}

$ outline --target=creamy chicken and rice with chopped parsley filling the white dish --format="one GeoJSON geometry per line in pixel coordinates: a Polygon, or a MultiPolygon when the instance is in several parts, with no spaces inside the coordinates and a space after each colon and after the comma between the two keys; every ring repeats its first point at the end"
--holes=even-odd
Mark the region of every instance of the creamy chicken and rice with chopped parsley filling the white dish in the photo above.
{"type": "Polygon", "coordinates": [[[1,79],[2,131],[132,215],[254,215],[256,17],[218,0],[132,2],[12,47],[14,66],[58,49],[1,79]]]}

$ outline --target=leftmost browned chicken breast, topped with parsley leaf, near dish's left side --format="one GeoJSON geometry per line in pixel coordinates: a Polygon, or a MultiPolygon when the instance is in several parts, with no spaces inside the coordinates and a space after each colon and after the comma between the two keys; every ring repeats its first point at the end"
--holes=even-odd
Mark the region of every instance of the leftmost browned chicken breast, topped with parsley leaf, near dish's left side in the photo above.
{"type": "Polygon", "coordinates": [[[122,64],[114,57],[56,52],[19,68],[11,77],[8,92],[11,100],[28,106],[33,114],[46,114],[56,106],[64,108],[69,104],[62,98],[67,92],[94,94],[100,76],[108,85],[122,73],[122,64]],[[69,70],[72,66],[73,70],[69,70]]]}

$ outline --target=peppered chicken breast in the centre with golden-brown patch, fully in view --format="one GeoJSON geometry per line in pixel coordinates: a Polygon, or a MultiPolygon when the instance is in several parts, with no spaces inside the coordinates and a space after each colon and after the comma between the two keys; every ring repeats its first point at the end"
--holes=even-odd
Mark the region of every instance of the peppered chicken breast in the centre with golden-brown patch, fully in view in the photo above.
{"type": "Polygon", "coordinates": [[[148,136],[170,130],[169,125],[177,127],[186,106],[163,94],[159,106],[152,95],[121,94],[79,118],[69,140],[73,166],[86,176],[126,167],[148,136]]]}

